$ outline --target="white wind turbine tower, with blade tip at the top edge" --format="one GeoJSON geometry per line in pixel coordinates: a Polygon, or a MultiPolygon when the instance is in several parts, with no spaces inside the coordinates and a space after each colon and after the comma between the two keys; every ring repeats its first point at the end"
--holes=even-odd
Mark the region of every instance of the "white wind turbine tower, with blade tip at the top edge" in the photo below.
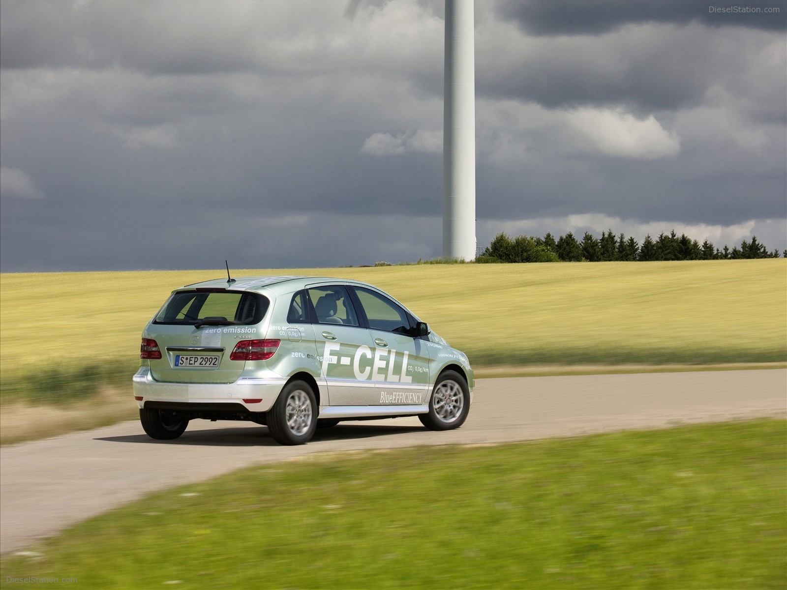
{"type": "MultiPolygon", "coordinates": [[[[350,0],[352,19],[360,0],[350,0]]],[[[474,0],[445,0],[443,256],[475,259],[474,0]]]]}

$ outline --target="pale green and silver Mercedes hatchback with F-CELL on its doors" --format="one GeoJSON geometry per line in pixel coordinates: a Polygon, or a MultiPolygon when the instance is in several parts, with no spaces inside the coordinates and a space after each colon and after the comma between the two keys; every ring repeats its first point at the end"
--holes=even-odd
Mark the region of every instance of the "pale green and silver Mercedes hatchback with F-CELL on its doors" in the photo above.
{"type": "Polygon", "coordinates": [[[418,416],[461,426],[475,384],[467,356],[364,282],[246,277],[176,289],[142,332],[134,395],[145,432],[193,419],[250,420],[303,444],[343,420],[418,416]]]}

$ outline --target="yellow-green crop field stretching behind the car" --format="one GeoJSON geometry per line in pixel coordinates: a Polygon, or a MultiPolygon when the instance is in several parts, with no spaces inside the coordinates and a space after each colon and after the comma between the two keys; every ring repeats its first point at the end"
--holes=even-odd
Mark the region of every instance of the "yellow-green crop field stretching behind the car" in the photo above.
{"type": "MultiPolygon", "coordinates": [[[[0,275],[2,365],[131,365],[177,286],[221,271],[0,275]]],[[[371,282],[476,366],[787,360],[787,260],[235,271],[371,282]]]]}

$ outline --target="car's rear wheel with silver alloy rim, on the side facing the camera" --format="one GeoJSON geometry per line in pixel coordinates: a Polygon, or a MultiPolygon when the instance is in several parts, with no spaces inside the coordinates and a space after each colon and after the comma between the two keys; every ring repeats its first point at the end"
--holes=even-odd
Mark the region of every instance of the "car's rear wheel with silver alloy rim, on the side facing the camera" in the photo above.
{"type": "Polygon", "coordinates": [[[268,412],[268,431],[279,444],[305,444],[317,427],[317,400],[311,385],[288,383],[268,412]]]}

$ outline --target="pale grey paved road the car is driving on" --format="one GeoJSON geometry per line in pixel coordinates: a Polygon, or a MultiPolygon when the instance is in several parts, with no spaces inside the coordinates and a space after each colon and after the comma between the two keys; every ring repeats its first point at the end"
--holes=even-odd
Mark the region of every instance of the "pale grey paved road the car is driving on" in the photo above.
{"type": "MultiPolygon", "coordinates": [[[[129,404],[133,404],[129,400],[129,404]]],[[[343,422],[300,447],[264,426],[195,421],[177,441],[139,422],[0,449],[0,551],[18,551],[149,492],[320,452],[494,444],[787,414],[787,370],[479,379],[459,430],[417,419],[343,422]]]]}

